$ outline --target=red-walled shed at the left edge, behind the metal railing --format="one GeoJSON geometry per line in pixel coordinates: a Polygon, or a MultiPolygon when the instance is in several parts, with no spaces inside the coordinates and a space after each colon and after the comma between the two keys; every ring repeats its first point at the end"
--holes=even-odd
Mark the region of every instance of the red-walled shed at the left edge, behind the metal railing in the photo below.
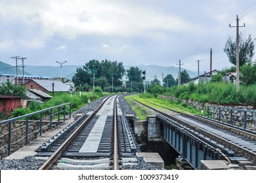
{"type": "Polygon", "coordinates": [[[0,95],[0,112],[5,112],[10,115],[16,109],[24,107],[24,99],[19,96],[0,95]]]}

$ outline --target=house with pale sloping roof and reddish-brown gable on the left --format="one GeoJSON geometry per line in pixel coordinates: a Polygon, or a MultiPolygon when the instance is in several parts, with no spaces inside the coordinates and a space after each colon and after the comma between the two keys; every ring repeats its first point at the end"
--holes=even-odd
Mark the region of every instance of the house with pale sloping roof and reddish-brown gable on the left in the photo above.
{"type": "Polygon", "coordinates": [[[56,80],[32,79],[25,84],[28,89],[37,89],[43,92],[68,92],[70,86],[56,80]]]}

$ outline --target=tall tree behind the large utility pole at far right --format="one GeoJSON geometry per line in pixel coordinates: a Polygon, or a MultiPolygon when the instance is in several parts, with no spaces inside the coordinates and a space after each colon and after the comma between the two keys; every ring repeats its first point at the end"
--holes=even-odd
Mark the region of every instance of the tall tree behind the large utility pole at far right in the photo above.
{"type": "MultiPolygon", "coordinates": [[[[245,63],[251,62],[254,56],[254,42],[255,39],[251,38],[251,35],[244,41],[242,33],[239,34],[239,65],[240,67],[245,63]]],[[[224,52],[228,56],[230,63],[236,65],[236,39],[228,37],[224,46],[224,52]]]]}

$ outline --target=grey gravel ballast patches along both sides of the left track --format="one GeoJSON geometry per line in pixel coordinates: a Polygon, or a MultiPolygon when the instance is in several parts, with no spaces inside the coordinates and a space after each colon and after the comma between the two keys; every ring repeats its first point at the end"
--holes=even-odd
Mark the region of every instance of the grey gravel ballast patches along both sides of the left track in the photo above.
{"type": "MultiPolygon", "coordinates": [[[[75,111],[72,113],[72,116],[75,114],[80,114],[84,112],[90,112],[96,109],[100,103],[105,99],[106,97],[102,97],[95,102],[86,105],[85,107],[79,108],[79,110],[75,111]]],[[[121,110],[123,111],[123,114],[135,114],[133,109],[129,106],[127,101],[125,101],[123,95],[119,97],[119,105],[121,107],[121,110]]],[[[133,165],[133,166],[125,166],[122,167],[122,169],[132,169],[132,170],[157,170],[161,169],[160,167],[153,166],[149,163],[145,163],[145,161],[142,158],[137,158],[139,160],[138,165],[133,165]]],[[[2,159],[0,160],[0,169],[1,170],[35,170],[39,169],[41,165],[45,160],[43,159],[37,159],[34,158],[33,156],[27,156],[26,158],[23,159],[2,159]]]]}

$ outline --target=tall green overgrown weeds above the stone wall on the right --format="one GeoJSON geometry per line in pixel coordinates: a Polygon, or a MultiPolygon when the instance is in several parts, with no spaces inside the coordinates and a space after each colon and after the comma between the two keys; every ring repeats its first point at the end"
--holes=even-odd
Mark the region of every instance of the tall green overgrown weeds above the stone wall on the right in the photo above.
{"type": "Polygon", "coordinates": [[[161,86],[154,86],[148,92],[153,95],[163,94],[178,99],[195,100],[201,103],[217,104],[256,104],[256,85],[240,86],[236,91],[236,85],[230,82],[207,82],[188,86],[173,86],[160,90],[161,86]]]}

